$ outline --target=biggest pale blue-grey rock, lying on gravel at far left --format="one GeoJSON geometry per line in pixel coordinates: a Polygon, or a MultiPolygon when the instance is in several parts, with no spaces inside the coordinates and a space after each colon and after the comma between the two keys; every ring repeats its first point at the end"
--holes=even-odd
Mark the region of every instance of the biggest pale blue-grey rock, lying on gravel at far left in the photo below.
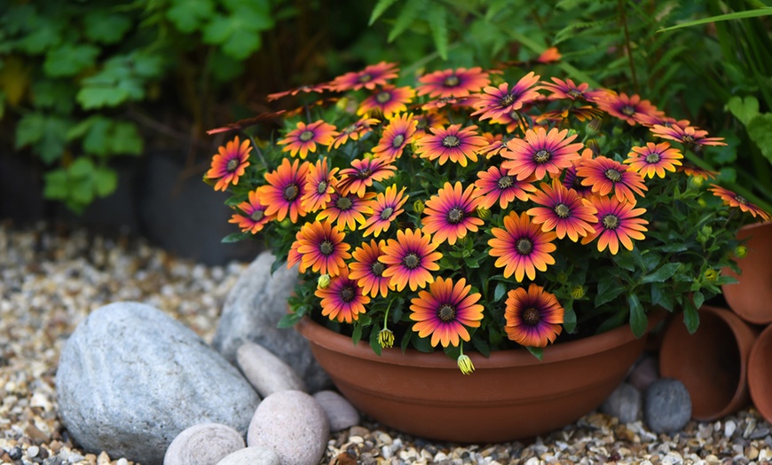
{"type": "Polygon", "coordinates": [[[143,303],[99,308],[59,359],[59,414],[75,443],[145,465],[198,423],[244,435],[260,398],[239,370],[182,323],[143,303]]]}

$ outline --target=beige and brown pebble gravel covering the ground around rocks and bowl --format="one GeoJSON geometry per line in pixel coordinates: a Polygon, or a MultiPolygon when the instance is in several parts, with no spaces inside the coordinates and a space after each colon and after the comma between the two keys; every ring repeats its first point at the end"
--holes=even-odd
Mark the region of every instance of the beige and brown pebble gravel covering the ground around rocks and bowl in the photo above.
{"type": "MultiPolygon", "coordinates": [[[[57,417],[59,352],[90,311],[120,300],[154,305],[211,341],[225,296],[247,266],[179,260],[144,240],[45,225],[0,224],[0,464],[121,464],[86,453],[57,417]]],[[[335,433],[320,463],[760,463],[770,425],[748,408],[717,422],[655,435],[641,422],[589,414],[528,442],[456,445],[410,437],[367,419],[335,433]]]]}

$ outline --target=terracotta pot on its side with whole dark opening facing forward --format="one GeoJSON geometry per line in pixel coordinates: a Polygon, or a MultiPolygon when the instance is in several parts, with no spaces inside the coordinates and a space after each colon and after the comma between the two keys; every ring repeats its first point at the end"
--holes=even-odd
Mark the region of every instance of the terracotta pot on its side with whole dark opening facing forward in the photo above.
{"type": "Polygon", "coordinates": [[[703,305],[699,327],[689,335],[681,319],[667,328],[659,350],[659,374],[683,382],[692,417],[709,422],[746,406],[748,356],[757,331],[728,309],[703,305]]]}

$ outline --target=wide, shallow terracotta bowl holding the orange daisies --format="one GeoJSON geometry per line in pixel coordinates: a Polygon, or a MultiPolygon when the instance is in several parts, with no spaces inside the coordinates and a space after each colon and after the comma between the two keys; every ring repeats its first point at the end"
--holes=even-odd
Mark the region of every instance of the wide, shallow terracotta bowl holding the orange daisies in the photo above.
{"type": "MultiPolygon", "coordinates": [[[[650,317],[650,328],[662,318],[650,317]]],[[[476,371],[461,374],[455,360],[398,348],[379,357],[311,319],[297,330],[337,388],[361,412],[418,437],[492,443],[562,428],[608,398],[641,355],[645,338],[629,327],[557,343],[543,360],[528,351],[469,353],[476,371]]]]}

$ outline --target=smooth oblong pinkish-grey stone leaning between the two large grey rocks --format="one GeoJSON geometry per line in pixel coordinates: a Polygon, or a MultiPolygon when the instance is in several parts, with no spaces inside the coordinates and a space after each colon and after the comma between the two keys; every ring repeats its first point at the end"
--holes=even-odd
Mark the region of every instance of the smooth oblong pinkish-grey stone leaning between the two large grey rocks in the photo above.
{"type": "Polygon", "coordinates": [[[260,344],[241,344],[236,351],[236,361],[244,376],[264,398],[280,390],[306,391],[305,383],[295,369],[260,344]]]}

